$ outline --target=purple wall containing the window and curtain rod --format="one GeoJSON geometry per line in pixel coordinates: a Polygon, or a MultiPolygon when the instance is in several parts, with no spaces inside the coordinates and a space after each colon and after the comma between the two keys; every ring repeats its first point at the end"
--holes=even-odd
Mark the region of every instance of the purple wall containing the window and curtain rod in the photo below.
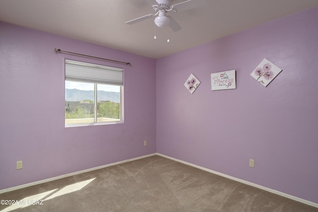
{"type": "Polygon", "coordinates": [[[0,99],[0,190],[156,152],[154,59],[0,22],[0,99]],[[65,58],[124,68],[124,124],[64,127],[65,58]]]}

